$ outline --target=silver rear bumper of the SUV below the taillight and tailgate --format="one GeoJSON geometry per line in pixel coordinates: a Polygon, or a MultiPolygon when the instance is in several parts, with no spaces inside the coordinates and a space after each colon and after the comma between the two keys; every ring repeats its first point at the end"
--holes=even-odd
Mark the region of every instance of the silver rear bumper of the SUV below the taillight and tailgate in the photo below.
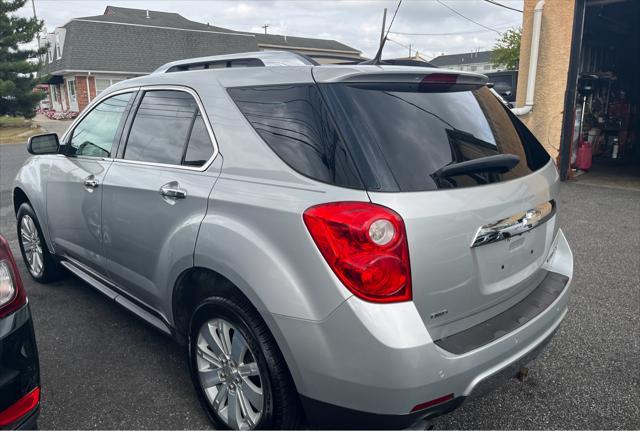
{"type": "Polygon", "coordinates": [[[322,322],[274,316],[312,425],[406,427],[452,410],[504,374],[515,375],[567,312],[573,257],[561,231],[552,250],[545,269],[567,280],[556,299],[526,324],[463,354],[435,344],[412,302],[378,305],[350,298],[322,322]],[[452,401],[411,413],[414,406],[449,394],[452,401]],[[314,423],[329,416],[327,405],[342,411],[345,421],[314,423]],[[371,414],[372,422],[365,418],[371,414]],[[384,417],[391,422],[382,423],[384,417]]]}

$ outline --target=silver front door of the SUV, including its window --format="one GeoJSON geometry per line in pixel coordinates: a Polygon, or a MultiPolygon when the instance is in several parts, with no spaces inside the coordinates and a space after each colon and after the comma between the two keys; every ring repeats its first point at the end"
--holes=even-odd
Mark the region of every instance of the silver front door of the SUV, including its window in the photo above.
{"type": "Polygon", "coordinates": [[[51,164],[47,221],[56,253],[105,274],[102,252],[102,181],[109,169],[135,91],[95,105],[66,134],[51,164]]]}

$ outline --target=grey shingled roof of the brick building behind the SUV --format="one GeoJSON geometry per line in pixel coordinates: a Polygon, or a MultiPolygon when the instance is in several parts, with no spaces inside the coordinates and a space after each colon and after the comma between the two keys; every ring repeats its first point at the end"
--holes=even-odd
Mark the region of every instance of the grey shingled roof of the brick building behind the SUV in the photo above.
{"type": "Polygon", "coordinates": [[[46,73],[90,70],[145,74],[170,61],[258,51],[259,45],[360,54],[334,40],[237,32],[177,13],[149,11],[147,18],[146,10],[113,6],[107,6],[104,15],[76,18],[63,27],[62,58],[45,62],[46,73]]]}

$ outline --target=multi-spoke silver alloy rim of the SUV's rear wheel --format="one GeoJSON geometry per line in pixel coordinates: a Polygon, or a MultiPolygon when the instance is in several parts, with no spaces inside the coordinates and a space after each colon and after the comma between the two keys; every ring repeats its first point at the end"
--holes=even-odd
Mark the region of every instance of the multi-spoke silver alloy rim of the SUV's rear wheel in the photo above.
{"type": "Polygon", "coordinates": [[[207,399],[233,429],[253,429],[264,411],[263,380],[256,355],[230,322],[205,322],[196,344],[198,377],[207,399]]]}

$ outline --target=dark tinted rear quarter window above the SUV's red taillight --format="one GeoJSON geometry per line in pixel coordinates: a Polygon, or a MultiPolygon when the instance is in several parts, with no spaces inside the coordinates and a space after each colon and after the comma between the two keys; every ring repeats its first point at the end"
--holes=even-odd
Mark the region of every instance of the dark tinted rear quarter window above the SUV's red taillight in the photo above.
{"type": "Polygon", "coordinates": [[[271,149],[303,175],[345,187],[362,182],[318,88],[232,88],[229,94],[271,149]]]}

